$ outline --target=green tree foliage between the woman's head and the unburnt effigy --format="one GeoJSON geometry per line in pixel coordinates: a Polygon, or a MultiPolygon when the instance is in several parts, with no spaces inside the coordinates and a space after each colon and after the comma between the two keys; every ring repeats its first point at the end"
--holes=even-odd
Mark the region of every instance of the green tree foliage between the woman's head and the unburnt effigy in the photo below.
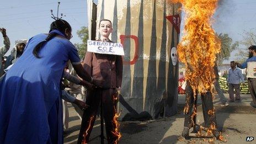
{"type": "Polygon", "coordinates": [[[88,40],[88,28],[82,26],[80,30],[77,31],[78,37],[82,40],[82,44],[74,44],[78,49],[79,57],[83,58],[87,52],[87,40],[88,40]]]}

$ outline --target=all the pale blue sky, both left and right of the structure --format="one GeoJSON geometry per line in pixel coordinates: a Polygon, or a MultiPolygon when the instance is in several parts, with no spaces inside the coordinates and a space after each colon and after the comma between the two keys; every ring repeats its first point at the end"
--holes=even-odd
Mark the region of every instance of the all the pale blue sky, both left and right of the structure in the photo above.
{"type": "MultiPolygon", "coordinates": [[[[66,15],[63,19],[67,20],[72,26],[73,38],[71,42],[81,43],[82,40],[78,38],[76,31],[82,26],[88,25],[87,1],[59,1],[61,2],[59,13],[66,15]]],[[[7,29],[11,48],[15,40],[29,39],[39,33],[48,33],[50,23],[53,22],[50,10],[53,9],[56,15],[57,2],[57,0],[1,1],[0,27],[7,29]]],[[[97,3],[97,1],[94,2],[97,3]]],[[[217,33],[226,33],[234,41],[241,41],[244,30],[251,30],[256,27],[255,7],[255,0],[222,0],[216,10],[215,23],[212,26],[217,33]]],[[[2,38],[0,38],[0,45],[2,44],[2,38]]],[[[239,48],[244,48],[244,46],[240,45],[239,48]]],[[[230,60],[234,59],[233,53],[230,60]]]]}

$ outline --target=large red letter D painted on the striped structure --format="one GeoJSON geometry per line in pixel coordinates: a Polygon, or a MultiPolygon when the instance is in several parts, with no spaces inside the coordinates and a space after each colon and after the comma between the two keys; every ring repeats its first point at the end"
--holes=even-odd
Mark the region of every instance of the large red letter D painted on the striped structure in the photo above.
{"type": "Polygon", "coordinates": [[[132,59],[132,61],[124,61],[124,65],[134,65],[138,60],[138,37],[135,35],[120,35],[121,44],[123,46],[126,39],[134,39],[135,52],[134,52],[134,58],[132,59]]]}

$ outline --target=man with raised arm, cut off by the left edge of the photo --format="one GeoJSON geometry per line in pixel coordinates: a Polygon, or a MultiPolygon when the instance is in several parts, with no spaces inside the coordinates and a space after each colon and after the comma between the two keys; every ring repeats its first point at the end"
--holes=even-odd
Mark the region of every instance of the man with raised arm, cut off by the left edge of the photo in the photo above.
{"type": "Polygon", "coordinates": [[[3,45],[2,47],[0,47],[0,77],[4,74],[3,71],[3,66],[2,66],[2,57],[6,54],[6,52],[9,50],[10,48],[10,40],[8,38],[8,36],[6,35],[6,29],[4,28],[0,28],[0,31],[3,35],[3,45]]]}

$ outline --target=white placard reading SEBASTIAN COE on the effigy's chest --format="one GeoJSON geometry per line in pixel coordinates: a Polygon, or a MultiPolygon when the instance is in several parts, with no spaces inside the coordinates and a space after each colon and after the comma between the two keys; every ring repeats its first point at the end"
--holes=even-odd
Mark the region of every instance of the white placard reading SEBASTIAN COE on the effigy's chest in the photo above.
{"type": "Polygon", "coordinates": [[[124,56],[124,48],[120,43],[103,42],[103,41],[87,41],[87,51],[98,54],[120,55],[124,56]]]}

